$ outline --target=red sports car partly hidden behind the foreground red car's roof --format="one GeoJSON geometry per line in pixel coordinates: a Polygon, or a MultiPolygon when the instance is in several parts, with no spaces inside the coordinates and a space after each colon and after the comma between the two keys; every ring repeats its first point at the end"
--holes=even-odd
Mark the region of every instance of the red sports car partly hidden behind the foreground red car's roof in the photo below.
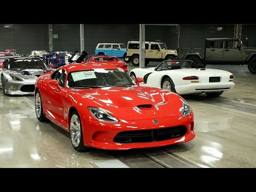
{"type": "Polygon", "coordinates": [[[81,62],[81,63],[97,63],[97,62],[101,62],[101,63],[107,63],[107,64],[112,64],[115,66],[120,67],[121,69],[123,69],[126,73],[128,71],[127,69],[127,64],[124,61],[120,61],[118,59],[118,57],[115,56],[108,56],[108,55],[89,55],[85,61],[81,62]]]}

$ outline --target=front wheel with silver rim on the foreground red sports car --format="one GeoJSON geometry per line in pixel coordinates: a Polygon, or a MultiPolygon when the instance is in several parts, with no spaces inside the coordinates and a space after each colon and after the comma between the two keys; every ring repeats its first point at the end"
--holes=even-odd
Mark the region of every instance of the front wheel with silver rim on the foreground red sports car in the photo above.
{"type": "Polygon", "coordinates": [[[71,114],[71,116],[70,116],[69,133],[70,133],[71,144],[72,144],[72,146],[74,147],[74,149],[76,151],[86,151],[86,150],[90,149],[90,147],[87,147],[87,146],[84,145],[83,129],[82,129],[81,118],[80,118],[80,116],[79,116],[77,111],[74,111],[71,114]],[[80,129],[79,131],[76,131],[75,129],[72,129],[72,127],[71,127],[71,125],[76,123],[75,118],[77,118],[77,122],[78,122],[78,125],[79,125],[79,126],[75,125],[75,127],[76,127],[76,129],[80,129]],[[73,120],[74,120],[74,122],[73,122],[73,120]],[[75,137],[75,138],[80,137],[79,138],[79,143],[77,143],[78,140],[76,140],[75,138],[74,138],[74,140],[72,140],[73,137],[75,137]]]}

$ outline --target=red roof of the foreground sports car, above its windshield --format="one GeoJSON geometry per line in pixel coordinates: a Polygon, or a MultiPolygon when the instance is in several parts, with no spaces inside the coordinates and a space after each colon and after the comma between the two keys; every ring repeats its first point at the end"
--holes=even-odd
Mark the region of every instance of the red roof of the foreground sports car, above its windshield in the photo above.
{"type": "Polygon", "coordinates": [[[118,70],[119,67],[111,64],[106,64],[106,63],[86,63],[86,64],[72,63],[72,64],[59,67],[59,69],[66,69],[67,73],[70,73],[73,71],[92,70],[92,69],[118,70]]]}

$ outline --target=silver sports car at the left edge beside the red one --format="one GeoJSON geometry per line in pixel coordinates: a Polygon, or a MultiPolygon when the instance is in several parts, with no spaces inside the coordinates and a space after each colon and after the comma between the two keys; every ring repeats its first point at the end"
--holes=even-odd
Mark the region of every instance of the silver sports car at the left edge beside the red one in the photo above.
{"type": "Polygon", "coordinates": [[[0,64],[0,88],[6,95],[34,95],[35,82],[51,71],[38,57],[14,57],[0,64]]]}

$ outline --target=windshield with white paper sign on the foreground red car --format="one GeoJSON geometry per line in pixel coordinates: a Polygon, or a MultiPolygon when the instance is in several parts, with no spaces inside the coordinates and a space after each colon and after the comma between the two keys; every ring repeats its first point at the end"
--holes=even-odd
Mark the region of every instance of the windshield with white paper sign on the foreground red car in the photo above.
{"type": "Polygon", "coordinates": [[[67,87],[132,86],[131,77],[120,70],[93,69],[74,71],[68,74],[67,87]]]}

